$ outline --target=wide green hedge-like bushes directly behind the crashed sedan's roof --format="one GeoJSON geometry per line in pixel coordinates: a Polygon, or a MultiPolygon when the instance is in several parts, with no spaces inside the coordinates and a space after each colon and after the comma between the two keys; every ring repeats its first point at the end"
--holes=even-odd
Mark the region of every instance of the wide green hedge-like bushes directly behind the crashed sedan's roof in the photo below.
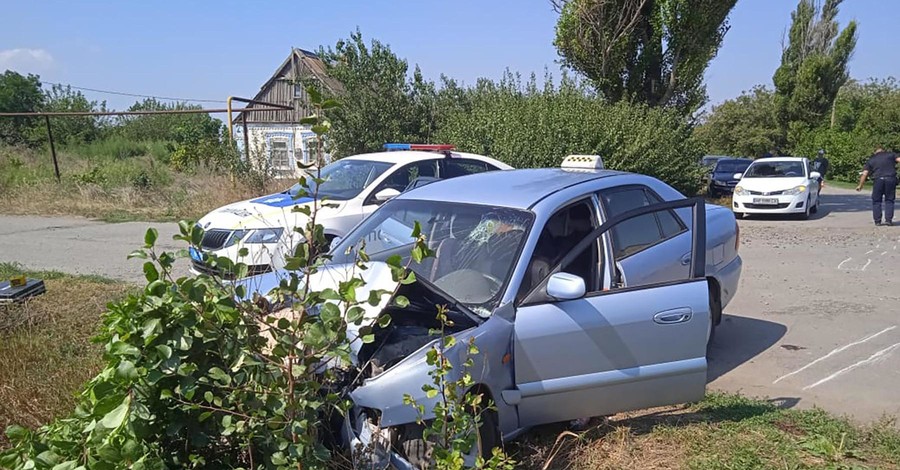
{"type": "Polygon", "coordinates": [[[453,93],[460,105],[443,118],[438,140],[491,155],[519,168],[555,167],[570,154],[599,154],[607,167],[656,176],[685,194],[698,189],[702,155],[691,126],[677,113],[608,104],[563,76],[538,87],[512,74],[453,93]]]}

